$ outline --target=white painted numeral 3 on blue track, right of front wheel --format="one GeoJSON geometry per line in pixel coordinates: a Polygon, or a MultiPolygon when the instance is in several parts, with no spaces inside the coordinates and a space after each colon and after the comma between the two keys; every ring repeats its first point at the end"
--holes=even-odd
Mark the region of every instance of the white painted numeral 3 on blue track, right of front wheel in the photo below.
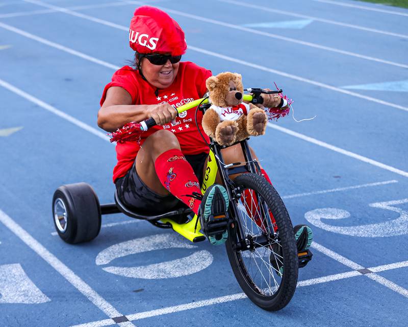
{"type": "Polygon", "coordinates": [[[337,208],[314,209],[304,214],[304,218],[311,224],[322,229],[349,236],[360,237],[389,237],[408,234],[408,211],[396,207],[397,204],[408,203],[407,199],[387,202],[370,203],[373,208],[393,211],[399,214],[397,219],[386,222],[359,225],[359,226],[333,226],[322,222],[322,219],[344,219],[349,218],[348,211],[337,208]]]}

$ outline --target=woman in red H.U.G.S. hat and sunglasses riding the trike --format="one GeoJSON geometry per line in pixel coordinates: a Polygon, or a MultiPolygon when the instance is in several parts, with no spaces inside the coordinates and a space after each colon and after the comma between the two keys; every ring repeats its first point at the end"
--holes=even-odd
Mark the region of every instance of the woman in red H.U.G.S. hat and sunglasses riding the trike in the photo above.
{"type": "MultiPolygon", "coordinates": [[[[180,61],[187,49],[184,32],[157,8],[143,6],[135,11],[129,42],[136,52],[136,69],[122,67],[106,85],[98,126],[112,132],[126,123],[148,118],[158,126],[142,134],[140,146],[134,142],[117,144],[113,181],[118,196],[126,206],[149,214],[167,212],[181,200],[205,224],[210,216],[227,211],[228,196],[219,184],[201,196],[209,148],[196,128],[194,110],[177,117],[175,108],[202,98],[212,73],[180,61]]],[[[277,96],[263,97],[267,107],[276,107],[281,101],[277,96]]],[[[227,163],[244,161],[240,146],[224,149],[222,155],[227,163]]]]}

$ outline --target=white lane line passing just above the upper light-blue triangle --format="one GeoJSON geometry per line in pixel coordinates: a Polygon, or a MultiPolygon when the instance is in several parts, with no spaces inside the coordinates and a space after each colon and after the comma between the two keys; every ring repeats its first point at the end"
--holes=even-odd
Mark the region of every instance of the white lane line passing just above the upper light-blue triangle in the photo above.
{"type": "Polygon", "coordinates": [[[398,34],[398,33],[393,33],[393,32],[382,31],[382,30],[376,30],[376,29],[371,29],[371,28],[368,28],[368,27],[360,26],[360,25],[346,24],[344,22],[340,22],[340,21],[336,21],[336,20],[319,18],[319,17],[314,17],[314,16],[308,16],[308,15],[302,15],[302,14],[298,14],[298,13],[294,13],[294,12],[290,12],[290,11],[272,9],[272,8],[257,6],[257,5],[253,5],[253,4],[249,4],[249,3],[243,3],[243,2],[235,1],[235,0],[218,0],[218,1],[228,3],[228,4],[243,6],[243,7],[247,7],[247,8],[259,9],[259,10],[262,10],[262,11],[269,11],[269,12],[273,12],[273,13],[277,13],[277,14],[283,14],[285,16],[293,16],[293,17],[299,17],[299,18],[305,18],[305,19],[313,19],[315,21],[321,21],[321,22],[324,22],[326,24],[332,24],[332,25],[337,25],[337,26],[342,26],[342,27],[348,27],[348,28],[367,31],[367,32],[373,32],[373,33],[379,33],[379,34],[384,34],[384,35],[408,38],[408,35],[406,35],[406,34],[398,34]]]}

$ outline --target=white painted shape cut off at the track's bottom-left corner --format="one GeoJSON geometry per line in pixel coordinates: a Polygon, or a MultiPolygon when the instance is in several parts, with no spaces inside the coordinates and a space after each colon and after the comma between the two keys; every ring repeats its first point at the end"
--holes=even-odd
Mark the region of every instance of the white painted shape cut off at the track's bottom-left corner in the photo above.
{"type": "Polygon", "coordinates": [[[39,304],[50,301],[20,264],[0,265],[0,295],[0,303],[39,304]]]}

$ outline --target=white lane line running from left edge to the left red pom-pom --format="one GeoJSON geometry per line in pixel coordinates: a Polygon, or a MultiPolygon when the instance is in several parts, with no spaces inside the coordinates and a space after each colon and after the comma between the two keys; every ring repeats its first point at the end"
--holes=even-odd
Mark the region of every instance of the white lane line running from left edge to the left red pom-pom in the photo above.
{"type": "MultiPolygon", "coordinates": [[[[1,24],[1,23],[0,23],[1,24]]],[[[109,141],[109,136],[106,135],[105,133],[98,131],[96,128],[93,128],[91,126],[89,126],[88,124],[85,124],[83,122],[81,122],[80,120],[70,116],[69,114],[53,107],[52,105],[49,105],[47,103],[45,103],[44,101],[41,101],[40,99],[37,99],[35,97],[33,97],[32,95],[29,95],[27,92],[24,92],[23,90],[7,83],[6,81],[0,79],[0,86],[3,86],[4,88],[7,88],[9,91],[12,91],[13,93],[15,93],[16,95],[32,102],[35,103],[36,105],[40,106],[41,108],[48,110],[54,114],[56,114],[57,116],[60,116],[61,118],[65,119],[66,121],[77,125],[78,127],[104,139],[105,141],[109,141]]]]}

